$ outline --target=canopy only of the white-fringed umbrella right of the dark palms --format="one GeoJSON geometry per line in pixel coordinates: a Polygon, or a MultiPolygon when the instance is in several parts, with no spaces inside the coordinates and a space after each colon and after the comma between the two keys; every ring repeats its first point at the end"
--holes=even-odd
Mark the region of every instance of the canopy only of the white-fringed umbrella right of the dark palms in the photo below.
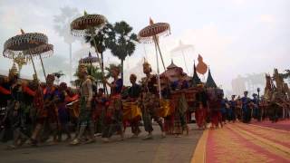
{"type": "Polygon", "coordinates": [[[142,43],[151,43],[152,40],[154,41],[155,39],[154,37],[169,34],[170,34],[170,25],[168,23],[154,24],[153,20],[150,18],[150,25],[140,30],[138,34],[138,39],[142,43]]]}

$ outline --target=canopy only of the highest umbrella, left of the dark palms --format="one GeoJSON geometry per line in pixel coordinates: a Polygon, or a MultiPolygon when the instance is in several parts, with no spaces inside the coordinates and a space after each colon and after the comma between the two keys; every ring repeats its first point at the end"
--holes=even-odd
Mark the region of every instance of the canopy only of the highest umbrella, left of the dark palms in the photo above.
{"type": "MultiPolygon", "coordinates": [[[[76,18],[71,23],[71,34],[74,36],[87,35],[86,31],[90,29],[98,30],[101,29],[104,24],[108,21],[102,14],[87,14],[76,18]]],[[[90,35],[90,34],[89,34],[90,35]]]]}

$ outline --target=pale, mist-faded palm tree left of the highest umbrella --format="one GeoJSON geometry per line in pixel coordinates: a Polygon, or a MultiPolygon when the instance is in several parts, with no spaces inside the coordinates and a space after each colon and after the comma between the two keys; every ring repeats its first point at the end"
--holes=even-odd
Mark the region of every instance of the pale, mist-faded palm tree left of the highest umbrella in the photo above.
{"type": "Polygon", "coordinates": [[[71,34],[70,24],[73,18],[79,16],[80,13],[77,8],[71,8],[69,6],[64,6],[61,8],[61,14],[53,16],[54,30],[63,37],[65,43],[69,44],[70,48],[70,80],[72,81],[72,44],[75,38],[71,34]]]}

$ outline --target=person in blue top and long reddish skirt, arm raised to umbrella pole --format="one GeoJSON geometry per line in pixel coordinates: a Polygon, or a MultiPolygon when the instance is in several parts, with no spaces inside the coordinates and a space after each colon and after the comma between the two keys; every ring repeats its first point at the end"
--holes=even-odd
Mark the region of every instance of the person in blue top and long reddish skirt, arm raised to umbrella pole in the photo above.
{"type": "Polygon", "coordinates": [[[104,129],[102,131],[103,142],[109,142],[114,132],[119,132],[121,140],[124,139],[123,125],[122,125],[122,106],[121,106],[121,91],[123,88],[123,81],[119,78],[120,69],[117,66],[112,67],[111,76],[113,82],[103,81],[111,88],[110,102],[105,113],[104,129]]]}

